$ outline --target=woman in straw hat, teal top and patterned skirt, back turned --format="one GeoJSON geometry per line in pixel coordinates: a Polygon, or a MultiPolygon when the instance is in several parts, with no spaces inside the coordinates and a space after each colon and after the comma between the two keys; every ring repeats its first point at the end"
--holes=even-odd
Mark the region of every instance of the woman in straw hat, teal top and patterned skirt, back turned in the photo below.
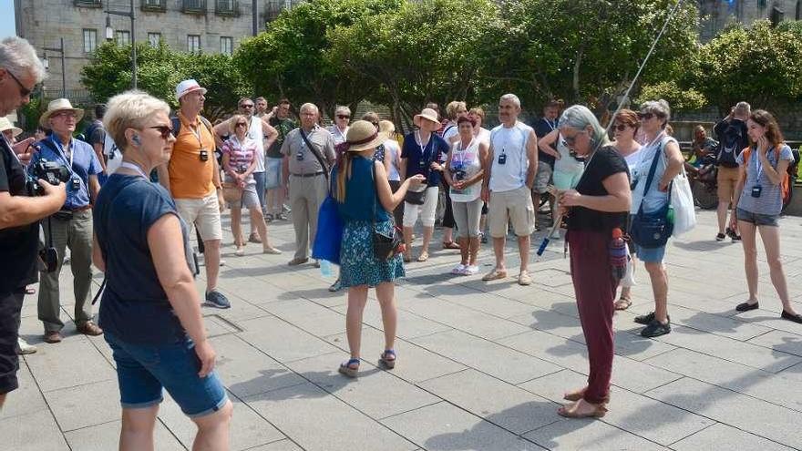
{"type": "Polygon", "coordinates": [[[397,277],[404,276],[401,257],[393,255],[387,260],[375,258],[374,231],[391,233],[393,216],[406,190],[424,182],[422,175],[404,180],[395,193],[390,190],[385,166],[373,160],[375,148],[387,140],[366,120],[357,120],[348,129],[346,141],[341,144],[343,158],[332,169],[332,192],[338,202],[340,217],[344,221],[343,247],[340,257],[340,280],[348,289],[348,312],[345,331],[351,359],[340,365],[340,373],[355,377],[359,371],[362,337],[362,313],[367,302],[367,290],[375,287],[376,298],[382,309],[385,330],[385,351],[379,364],[393,368],[396,352],[396,300],[397,277]]]}

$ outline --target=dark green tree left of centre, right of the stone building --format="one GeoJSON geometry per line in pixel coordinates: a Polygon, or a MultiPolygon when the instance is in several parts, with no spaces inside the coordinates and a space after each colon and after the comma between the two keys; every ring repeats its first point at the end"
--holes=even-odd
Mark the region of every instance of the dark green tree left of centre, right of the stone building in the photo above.
{"type": "Polygon", "coordinates": [[[349,74],[329,57],[329,32],[365,15],[397,9],[402,0],[310,0],[281,15],[259,36],[246,39],[235,60],[257,92],[294,102],[314,102],[330,116],[338,104],[355,109],[377,88],[373,80],[349,74]]]}

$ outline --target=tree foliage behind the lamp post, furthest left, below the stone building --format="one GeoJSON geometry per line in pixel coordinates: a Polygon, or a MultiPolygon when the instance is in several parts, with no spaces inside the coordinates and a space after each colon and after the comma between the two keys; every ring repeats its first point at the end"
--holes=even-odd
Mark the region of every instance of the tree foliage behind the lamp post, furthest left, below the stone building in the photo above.
{"type": "MultiPolygon", "coordinates": [[[[231,56],[175,52],[164,43],[153,47],[137,44],[137,87],[177,107],[175,87],[195,78],[207,87],[204,115],[216,118],[235,109],[240,97],[252,93],[251,84],[241,77],[231,56]]],[[[131,47],[105,43],[98,46],[81,72],[81,82],[98,102],[104,102],[131,86],[131,47]]]]}

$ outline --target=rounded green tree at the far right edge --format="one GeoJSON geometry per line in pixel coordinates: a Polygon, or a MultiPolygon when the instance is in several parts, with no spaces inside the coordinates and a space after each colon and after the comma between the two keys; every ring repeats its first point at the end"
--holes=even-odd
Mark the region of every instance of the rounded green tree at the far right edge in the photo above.
{"type": "Polygon", "coordinates": [[[771,108],[802,99],[802,42],[769,21],[732,26],[704,45],[694,85],[722,112],[739,100],[771,108]]]}

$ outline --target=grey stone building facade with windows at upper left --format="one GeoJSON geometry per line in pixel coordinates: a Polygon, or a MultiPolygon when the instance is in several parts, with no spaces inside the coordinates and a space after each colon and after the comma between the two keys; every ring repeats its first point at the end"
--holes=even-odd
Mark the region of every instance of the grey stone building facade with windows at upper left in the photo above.
{"type": "MultiPolygon", "coordinates": [[[[158,42],[181,51],[231,53],[244,37],[252,36],[252,1],[256,2],[259,31],[283,8],[300,0],[133,0],[135,41],[158,42]]],[[[46,97],[62,89],[61,54],[64,39],[68,97],[85,97],[80,71],[91,51],[106,40],[107,16],[113,39],[130,43],[130,18],[105,11],[128,13],[130,0],[15,0],[16,33],[31,42],[49,62],[46,97]]]]}

